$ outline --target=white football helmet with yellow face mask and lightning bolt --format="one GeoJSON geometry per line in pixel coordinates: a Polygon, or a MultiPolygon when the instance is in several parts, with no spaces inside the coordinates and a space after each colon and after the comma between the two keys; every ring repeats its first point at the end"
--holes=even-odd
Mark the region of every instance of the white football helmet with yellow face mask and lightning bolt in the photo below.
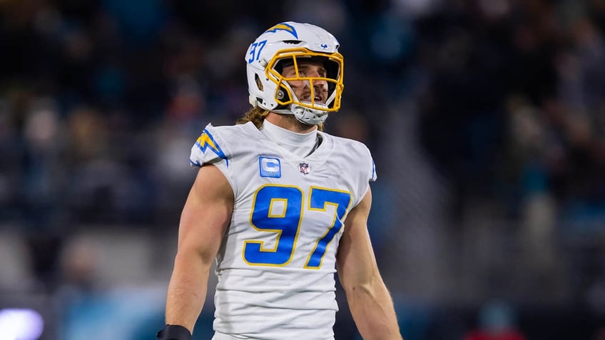
{"type": "Polygon", "coordinates": [[[344,85],[339,46],[332,34],[312,24],[288,21],[271,27],[256,38],[245,56],[250,104],[275,113],[293,114],[309,125],[322,123],[327,113],[340,109],[344,85]],[[325,78],[301,75],[298,65],[302,58],[321,61],[327,73],[325,78]],[[282,76],[285,65],[294,65],[295,78],[282,76]],[[288,81],[306,81],[311,91],[310,101],[296,98],[288,81]],[[327,82],[325,103],[316,102],[314,81],[327,82]]]}

